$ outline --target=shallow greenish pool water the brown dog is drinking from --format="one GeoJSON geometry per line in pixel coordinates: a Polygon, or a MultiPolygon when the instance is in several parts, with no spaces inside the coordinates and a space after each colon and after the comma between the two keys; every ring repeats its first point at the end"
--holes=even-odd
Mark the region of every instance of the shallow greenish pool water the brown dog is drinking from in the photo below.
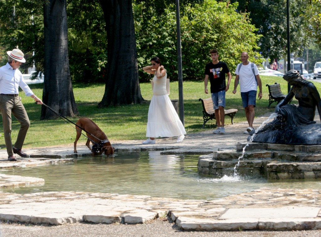
{"type": "Polygon", "coordinates": [[[221,179],[197,173],[198,155],[160,155],[159,151],[119,153],[115,157],[75,159],[73,163],[3,169],[8,175],[45,179],[43,186],[3,192],[106,192],[179,199],[217,199],[260,187],[321,189],[321,180],[267,181],[265,177],[221,179]]]}

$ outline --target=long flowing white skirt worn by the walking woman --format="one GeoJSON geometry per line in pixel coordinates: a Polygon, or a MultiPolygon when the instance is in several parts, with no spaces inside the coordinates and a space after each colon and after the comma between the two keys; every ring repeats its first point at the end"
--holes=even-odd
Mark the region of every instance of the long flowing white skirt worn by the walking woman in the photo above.
{"type": "Polygon", "coordinates": [[[146,137],[174,137],[186,134],[178,114],[166,95],[153,95],[148,110],[146,137]]]}

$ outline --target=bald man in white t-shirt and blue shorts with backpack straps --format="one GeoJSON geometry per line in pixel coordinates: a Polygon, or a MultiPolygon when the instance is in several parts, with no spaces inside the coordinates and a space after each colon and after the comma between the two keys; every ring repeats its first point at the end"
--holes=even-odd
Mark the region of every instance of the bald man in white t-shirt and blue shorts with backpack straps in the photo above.
{"type": "Polygon", "coordinates": [[[236,88],[240,84],[240,92],[245,109],[246,119],[248,122],[247,130],[244,133],[253,135],[254,107],[256,106],[257,86],[259,86],[259,100],[262,98],[262,83],[259,71],[254,63],[248,61],[247,52],[241,54],[241,61],[235,70],[235,82],[233,94],[236,93],[236,88]]]}

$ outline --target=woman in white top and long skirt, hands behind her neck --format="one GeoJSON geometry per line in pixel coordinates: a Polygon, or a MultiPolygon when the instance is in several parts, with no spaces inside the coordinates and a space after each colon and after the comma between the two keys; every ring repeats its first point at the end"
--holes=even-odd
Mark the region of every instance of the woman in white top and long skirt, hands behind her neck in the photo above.
{"type": "Polygon", "coordinates": [[[146,136],[149,138],[143,144],[155,144],[155,137],[173,136],[177,136],[176,142],[180,143],[186,131],[166,91],[166,70],[160,65],[158,57],[153,57],[151,63],[152,66],[143,67],[145,72],[155,75],[146,130],[146,136]]]}

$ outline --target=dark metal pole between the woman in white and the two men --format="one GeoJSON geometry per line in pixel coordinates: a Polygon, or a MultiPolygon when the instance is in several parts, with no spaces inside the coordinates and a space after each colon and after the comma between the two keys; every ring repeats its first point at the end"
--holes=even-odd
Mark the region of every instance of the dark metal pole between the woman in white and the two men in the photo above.
{"type": "Polygon", "coordinates": [[[179,0],[176,0],[176,32],[177,32],[179,119],[181,120],[182,124],[185,126],[185,122],[184,122],[183,70],[182,70],[182,47],[181,47],[181,38],[180,38],[179,0]]]}

